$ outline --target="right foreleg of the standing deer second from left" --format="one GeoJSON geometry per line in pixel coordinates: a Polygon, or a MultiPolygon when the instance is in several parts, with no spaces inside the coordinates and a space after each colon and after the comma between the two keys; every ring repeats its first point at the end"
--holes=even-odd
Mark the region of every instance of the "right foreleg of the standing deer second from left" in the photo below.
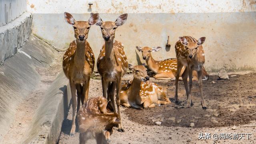
{"type": "Polygon", "coordinates": [[[118,131],[124,132],[124,128],[122,126],[122,120],[121,120],[121,112],[120,112],[120,88],[121,88],[121,76],[116,81],[116,106],[117,106],[118,117],[120,120],[120,124],[118,124],[118,131]]]}

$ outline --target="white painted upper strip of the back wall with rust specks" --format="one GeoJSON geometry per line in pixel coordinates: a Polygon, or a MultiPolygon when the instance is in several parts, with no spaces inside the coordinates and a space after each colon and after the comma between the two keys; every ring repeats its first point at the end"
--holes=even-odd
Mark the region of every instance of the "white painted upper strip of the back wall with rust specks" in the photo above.
{"type": "Polygon", "coordinates": [[[208,13],[251,12],[255,0],[27,0],[28,12],[41,14],[98,13],[208,13]]]}

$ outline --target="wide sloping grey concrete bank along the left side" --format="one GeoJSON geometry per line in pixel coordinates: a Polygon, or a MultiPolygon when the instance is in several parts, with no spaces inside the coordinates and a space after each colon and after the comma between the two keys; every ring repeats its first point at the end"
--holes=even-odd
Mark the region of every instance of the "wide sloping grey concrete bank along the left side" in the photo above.
{"type": "Polygon", "coordinates": [[[0,66],[0,142],[12,125],[18,104],[40,82],[36,67],[49,66],[56,56],[51,46],[31,35],[18,53],[0,66]]]}

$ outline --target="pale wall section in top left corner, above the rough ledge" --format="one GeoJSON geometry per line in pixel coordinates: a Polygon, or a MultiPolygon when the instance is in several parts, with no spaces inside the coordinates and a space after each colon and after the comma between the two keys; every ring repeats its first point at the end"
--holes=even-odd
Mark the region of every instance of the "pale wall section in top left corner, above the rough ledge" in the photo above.
{"type": "Polygon", "coordinates": [[[26,0],[0,0],[0,26],[16,19],[26,12],[26,0]]]}

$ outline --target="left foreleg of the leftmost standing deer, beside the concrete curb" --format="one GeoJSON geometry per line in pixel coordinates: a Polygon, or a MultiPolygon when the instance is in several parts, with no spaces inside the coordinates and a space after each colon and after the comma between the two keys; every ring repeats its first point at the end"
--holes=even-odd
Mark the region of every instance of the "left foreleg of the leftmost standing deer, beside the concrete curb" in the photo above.
{"type": "Polygon", "coordinates": [[[71,89],[71,96],[72,96],[72,127],[70,130],[70,136],[74,136],[76,131],[76,84],[70,80],[70,89],[71,89]]]}

